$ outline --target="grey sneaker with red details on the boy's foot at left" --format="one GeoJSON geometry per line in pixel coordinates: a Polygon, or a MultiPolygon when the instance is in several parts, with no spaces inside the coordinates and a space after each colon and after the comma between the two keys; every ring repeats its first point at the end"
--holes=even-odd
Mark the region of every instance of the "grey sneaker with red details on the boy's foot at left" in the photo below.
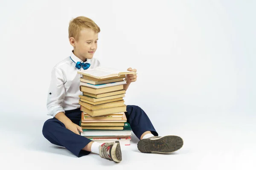
{"type": "Polygon", "coordinates": [[[122,153],[119,141],[104,143],[99,146],[99,156],[110,161],[122,161],[122,153]]]}

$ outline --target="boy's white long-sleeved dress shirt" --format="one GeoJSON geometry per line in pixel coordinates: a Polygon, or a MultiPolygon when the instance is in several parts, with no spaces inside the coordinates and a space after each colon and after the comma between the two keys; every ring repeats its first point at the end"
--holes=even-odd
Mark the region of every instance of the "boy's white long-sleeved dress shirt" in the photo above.
{"type": "MultiPolygon", "coordinates": [[[[71,52],[70,56],[56,64],[52,68],[52,78],[47,97],[47,115],[55,116],[59,112],[64,112],[80,108],[79,95],[82,92],[79,89],[81,74],[77,71],[83,70],[76,68],[75,62],[83,61],[71,52]],[[74,60],[74,62],[70,59],[74,60]]],[[[96,58],[87,59],[85,63],[90,63],[91,68],[100,66],[96,58]]]]}

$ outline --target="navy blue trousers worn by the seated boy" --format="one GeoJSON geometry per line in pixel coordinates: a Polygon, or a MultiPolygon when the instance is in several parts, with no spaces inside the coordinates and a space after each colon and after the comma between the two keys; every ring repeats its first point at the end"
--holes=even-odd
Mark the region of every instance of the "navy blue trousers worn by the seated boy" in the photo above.
{"type": "MultiPolygon", "coordinates": [[[[131,125],[131,129],[138,139],[140,139],[140,136],[145,131],[151,131],[154,136],[158,136],[158,133],[154,129],[150,119],[140,107],[135,105],[127,105],[126,111],[127,112],[125,112],[125,115],[127,117],[127,122],[131,125]]],[[[79,125],[79,121],[81,120],[80,108],[65,111],[65,115],[73,123],[79,125]]],[[[42,132],[44,137],[49,142],[58,146],[66,147],[67,150],[77,157],[85,156],[90,153],[89,151],[81,149],[91,142],[91,140],[84,136],[73,133],[55,117],[44,122],[42,132]]]]}

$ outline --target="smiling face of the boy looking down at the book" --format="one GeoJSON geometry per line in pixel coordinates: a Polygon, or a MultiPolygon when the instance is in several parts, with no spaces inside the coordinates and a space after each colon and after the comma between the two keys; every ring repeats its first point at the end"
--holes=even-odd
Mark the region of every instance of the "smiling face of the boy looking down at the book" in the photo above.
{"type": "Polygon", "coordinates": [[[74,40],[74,54],[81,60],[92,59],[97,49],[98,33],[90,28],[84,28],[80,32],[79,40],[74,40]]]}

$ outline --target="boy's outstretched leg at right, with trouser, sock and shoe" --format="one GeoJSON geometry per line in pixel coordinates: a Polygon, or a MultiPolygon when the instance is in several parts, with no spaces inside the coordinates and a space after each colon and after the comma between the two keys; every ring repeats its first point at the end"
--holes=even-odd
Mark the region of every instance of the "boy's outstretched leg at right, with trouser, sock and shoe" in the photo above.
{"type": "Polygon", "coordinates": [[[158,136],[146,113],[138,106],[127,105],[127,122],[134,134],[141,139],[137,147],[143,153],[171,153],[183,146],[179,136],[158,136]]]}

